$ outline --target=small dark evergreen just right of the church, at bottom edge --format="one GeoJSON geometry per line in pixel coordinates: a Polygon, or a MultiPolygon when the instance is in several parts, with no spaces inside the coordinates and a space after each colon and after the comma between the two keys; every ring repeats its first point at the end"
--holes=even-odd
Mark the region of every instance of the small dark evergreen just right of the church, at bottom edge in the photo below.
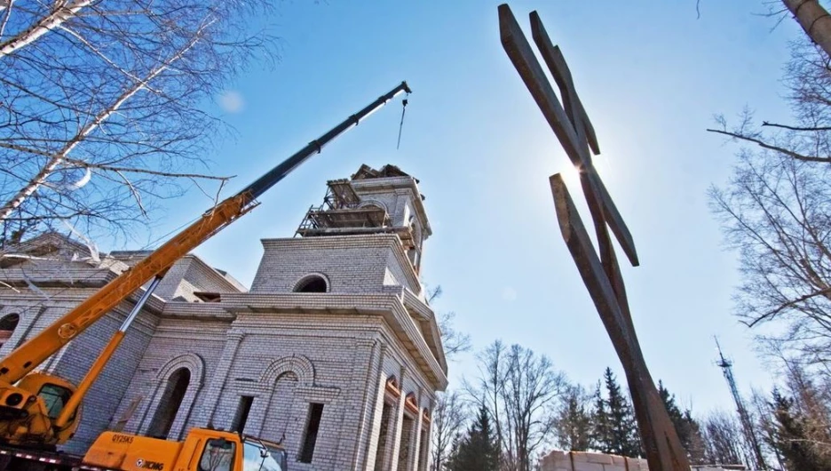
{"type": "Polygon", "coordinates": [[[487,409],[479,409],[479,416],[467,434],[455,447],[447,461],[449,471],[498,471],[499,446],[496,444],[487,409]]]}

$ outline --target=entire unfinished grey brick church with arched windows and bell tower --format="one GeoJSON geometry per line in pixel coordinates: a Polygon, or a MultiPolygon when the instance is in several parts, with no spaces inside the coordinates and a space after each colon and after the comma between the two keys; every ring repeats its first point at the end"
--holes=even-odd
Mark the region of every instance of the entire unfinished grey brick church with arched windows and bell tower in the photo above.
{"type": "MultiPolygon", "coordinates": [[[[100,432],[190,427],[283,443],[292,470],[421,471],[447,386],[419,281],[431,235],[418,180],[385,165],[331,180],[293,237],[265,239],[250,290],[188,255],[170,268],[83,402],[67,451],[100,432]]],[[[0,355],[146,251],[91,253],[47,234],[0,257],[0,355]]],[[[41,365],[76,384],[140,292],[41,365]]]]}

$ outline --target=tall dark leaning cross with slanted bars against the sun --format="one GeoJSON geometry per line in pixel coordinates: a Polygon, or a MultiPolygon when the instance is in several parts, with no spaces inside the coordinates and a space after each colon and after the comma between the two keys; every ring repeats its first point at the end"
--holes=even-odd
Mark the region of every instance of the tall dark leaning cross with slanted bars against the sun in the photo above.
{"type": "Polygon", "coordinates": [[[502,4],[498,11],[500,36],[505,52],[580,175],[580,184],[598,238],[598,251],[595,251],[559,173],[549,179],[557,219],[566,246],[626,372],[649,469],[689,471],[686,451],[646,367],[629,313],[629,302],[610,230],[633,267],[638,265],[637,251],[626,223],[592,164],[592,154],[600,153],[597,134],[574,90],[574,81],[566,60],[559,47],[551,44],[537,12],[530,14],[532,36],[542,54],[542,60],[554,76],[562,104],[542,65],[534,56],[531,44],[510,12],[510,7],[502,4]]]}

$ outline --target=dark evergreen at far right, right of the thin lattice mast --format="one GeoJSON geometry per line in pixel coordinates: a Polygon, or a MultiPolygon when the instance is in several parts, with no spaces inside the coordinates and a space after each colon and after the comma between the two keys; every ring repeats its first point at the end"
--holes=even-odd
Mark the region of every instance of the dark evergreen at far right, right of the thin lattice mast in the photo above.
{"type": "Polygon", "coordinates": [[[810,439],[810,432],[803,415],[793,408],[794,400],[773,390],[773,416],[775,430],[773,445],[785,460],[791,471],[827,471],[831,469],[831,459],[817,450],[816,443],[810,439]]]}

